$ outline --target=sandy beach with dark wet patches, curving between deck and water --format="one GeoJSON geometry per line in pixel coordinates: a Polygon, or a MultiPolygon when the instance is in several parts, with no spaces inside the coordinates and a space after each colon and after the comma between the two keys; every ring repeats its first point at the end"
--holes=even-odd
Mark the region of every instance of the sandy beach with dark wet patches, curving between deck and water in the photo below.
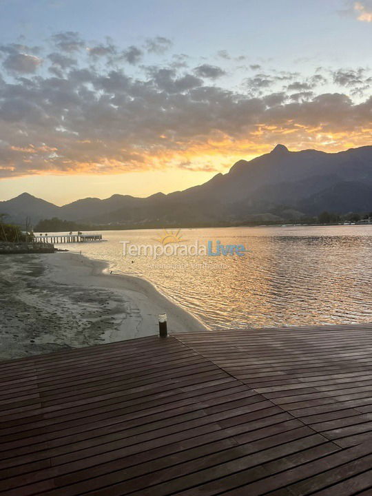
{"type": "Polygon", "coordinates": [[[71,252],[0,257],[0,360],[158,333],[205,330],[147,280],[71,252]]]}

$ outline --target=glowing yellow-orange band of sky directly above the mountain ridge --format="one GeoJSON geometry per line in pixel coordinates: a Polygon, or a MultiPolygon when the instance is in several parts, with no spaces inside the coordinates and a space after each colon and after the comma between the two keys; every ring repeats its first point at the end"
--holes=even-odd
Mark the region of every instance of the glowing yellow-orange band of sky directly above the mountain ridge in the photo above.
{"type": "Polygon", "coordinates": [[[144,197],[157,192],[165,194],[205,183],[218,173],[226,174],[237,161],[251,160],[271,152],[282,143],[293,152],[318,149],[337,153],[343,150],[370,145],[372,129],[362,127],[355,132],[322,130],[321,127],[291,127],[282,132],[278,127],[258,125],[249,140],[233,140],[224,136],[198,141],[182,151],[162,149],[151,156],[144,154],[145,169],[123,170],[107,159],[105,167],[78,163],[65,171],[52,168],[35,170],[33,175],[14,176],[0,180],[0,198],[8,200],[30,192],[57,205],[65,205],[78,198],[95,196],[108,198],[112,194],[130,194],[144,197]],[[294,132],[301,135],[294,136],[294,132]],[[256,143],[254,142],[256,138],[256,143]],[[269,141],[270,143],[265,143],[269,141]]]}

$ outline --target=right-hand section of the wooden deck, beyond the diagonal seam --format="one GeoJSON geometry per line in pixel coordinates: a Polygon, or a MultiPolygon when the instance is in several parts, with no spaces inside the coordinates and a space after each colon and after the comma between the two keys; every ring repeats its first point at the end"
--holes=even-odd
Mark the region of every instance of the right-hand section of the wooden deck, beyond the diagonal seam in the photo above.
{"type": "Polygon", "coordinates": [[[345,446],[372,438],[372,325],[179,335],[273,404],[345,446]],[[342,432],[319,424],[348,418],[342,432]],[[360,425],[362,424],[362,425],[360,425]]]}

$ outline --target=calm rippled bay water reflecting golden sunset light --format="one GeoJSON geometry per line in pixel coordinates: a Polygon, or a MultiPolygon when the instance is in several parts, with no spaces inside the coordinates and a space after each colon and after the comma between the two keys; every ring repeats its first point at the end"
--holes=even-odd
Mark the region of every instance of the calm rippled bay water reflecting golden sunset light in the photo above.
{"type": "MultiPolygon", "coordinates": [[[[103,231],[69,245],[147,278],[211,329],[372,322],[372,226],[183,229],[187,244],[245,245],[245,256],[123,257],[121,241],[156,243],[161,229],[103,231]]],[[[62,246],[62,245],[61,245],[62,246]]],[[[63,245],[66,247],[66,245],[63,245]]]]}

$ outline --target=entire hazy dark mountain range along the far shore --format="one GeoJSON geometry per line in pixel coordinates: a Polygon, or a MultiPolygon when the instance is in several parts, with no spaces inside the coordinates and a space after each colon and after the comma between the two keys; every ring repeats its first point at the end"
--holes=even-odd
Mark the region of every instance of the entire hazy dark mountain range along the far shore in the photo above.
{"type": "Polygon", "coordinates": [[[17,222],[28,215],[33,223],[59,217],[100,224],[213,225],[264,214],[288,218],[288,212],[299,218],[324,210],[372,211],[372,146],[328,154],[315,149],[290,152],[276,145],[268,154],[238,161],[227,174],[216,174],[203,185],[148,198],[114,194],[57,207],[24,193],[0,202],[0,213],[17,222]]]}

